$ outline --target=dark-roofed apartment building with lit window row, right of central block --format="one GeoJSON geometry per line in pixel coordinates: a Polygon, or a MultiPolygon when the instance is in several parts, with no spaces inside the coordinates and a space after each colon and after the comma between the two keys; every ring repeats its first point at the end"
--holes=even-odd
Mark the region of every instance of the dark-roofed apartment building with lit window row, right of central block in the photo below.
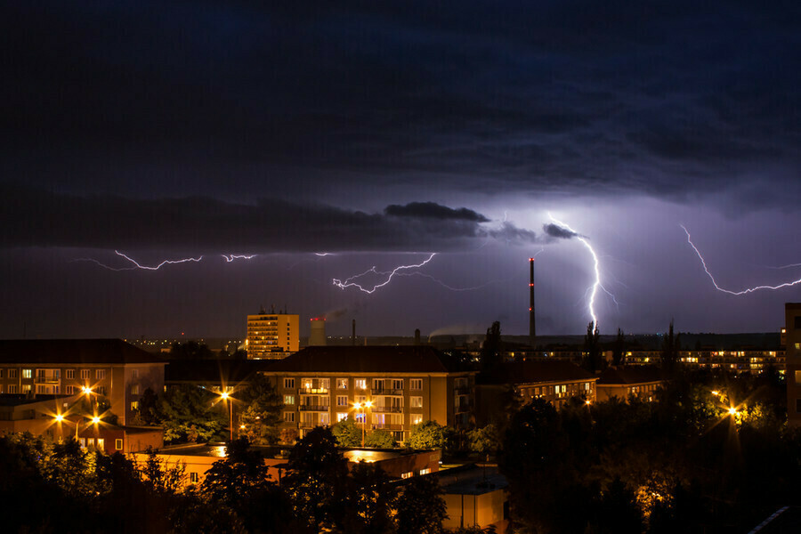
{"type": "Polygon", "coordinates": [[[476,424],[504,414],[508,392],[523,402],[545,399],[557,408],[572,397],[595,401],[598,376],[563,360],[511,361],[481,374],[475,386],[476,424]]]}

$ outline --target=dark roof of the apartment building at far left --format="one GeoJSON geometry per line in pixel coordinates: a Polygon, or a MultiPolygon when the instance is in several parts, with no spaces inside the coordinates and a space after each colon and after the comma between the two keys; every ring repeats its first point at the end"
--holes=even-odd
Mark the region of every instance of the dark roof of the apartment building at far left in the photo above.
{"type": "Polygon", "coordinates": [[[0,363],[158,363],[165,361],[121,339],[4,339],[0,363]]]}

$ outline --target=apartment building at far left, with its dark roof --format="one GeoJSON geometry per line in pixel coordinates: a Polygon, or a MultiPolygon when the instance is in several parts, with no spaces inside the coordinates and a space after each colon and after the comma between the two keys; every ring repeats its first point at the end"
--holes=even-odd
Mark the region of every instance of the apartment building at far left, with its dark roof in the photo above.
{"type": "Polygon", "coordinates": [[[145,389],[164,391],[165,364],[119,339],[0,340],[0,393],[102,395],[128,425],[145,389]]]}

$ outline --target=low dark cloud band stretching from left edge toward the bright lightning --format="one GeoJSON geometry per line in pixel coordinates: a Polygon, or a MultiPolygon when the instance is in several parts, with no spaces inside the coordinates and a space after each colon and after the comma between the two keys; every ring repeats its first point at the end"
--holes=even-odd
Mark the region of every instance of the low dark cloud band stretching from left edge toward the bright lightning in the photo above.
{"type": "Polygon", "coordinates": [[[205,197],[78,197],[9,184],[0,186],[0,195],[2,247],[203,253],[441,251],[459,249],[477,238],[536,238],[508,223],[500,229],[485,228],[482,223],[488,219],[473,210],[434,203],[409,204],[409,213],[401,210],[405,216],[399,217],[275,198],[241,205],[205,197]]]}

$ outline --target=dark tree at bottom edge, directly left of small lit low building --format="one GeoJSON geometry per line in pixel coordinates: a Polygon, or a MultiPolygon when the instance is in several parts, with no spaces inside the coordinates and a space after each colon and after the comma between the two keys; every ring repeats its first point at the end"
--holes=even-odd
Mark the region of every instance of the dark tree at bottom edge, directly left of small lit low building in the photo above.
{"type": "Polygon", "coordinates": [[[413,476],[403,487],[398,501],[398,532],[404,534],[439,534],[448,508],[435,475],[413,476]]]}

